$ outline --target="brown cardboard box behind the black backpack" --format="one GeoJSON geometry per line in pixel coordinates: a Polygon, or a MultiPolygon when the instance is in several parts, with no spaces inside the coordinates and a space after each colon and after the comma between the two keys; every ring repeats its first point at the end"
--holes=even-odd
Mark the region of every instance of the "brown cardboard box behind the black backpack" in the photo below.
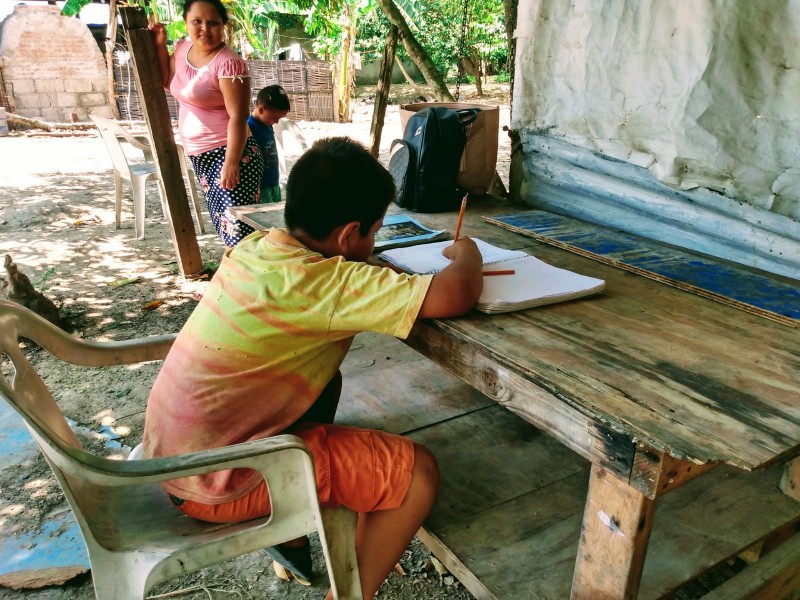
{"type": "Polygon", "coordinates": [[[459,110],[461,108],[478,108],[478,118],[467,125],[467,147],[461,159],[461,171],[458,174],[458,185],[470,194],[485,194],[492,184],[497,168],[497,140],[500,130],[500,108],[485,104],[469,104],[466,102],[419,102],[400,105],[400,126],[403,131],[406,123],[418,110],[429,106],[444,106],[459,110]]]}

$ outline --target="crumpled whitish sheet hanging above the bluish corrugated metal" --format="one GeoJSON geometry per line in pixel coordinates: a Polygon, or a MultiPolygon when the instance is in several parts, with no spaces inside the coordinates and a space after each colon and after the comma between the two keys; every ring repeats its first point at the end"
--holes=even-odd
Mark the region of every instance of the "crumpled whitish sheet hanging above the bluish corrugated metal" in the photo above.
{"type": "Polygon", "coordinates": [[[516,38],[526,155],[554,139],[800,240],[800,0],[520,0],[516,38]]]}

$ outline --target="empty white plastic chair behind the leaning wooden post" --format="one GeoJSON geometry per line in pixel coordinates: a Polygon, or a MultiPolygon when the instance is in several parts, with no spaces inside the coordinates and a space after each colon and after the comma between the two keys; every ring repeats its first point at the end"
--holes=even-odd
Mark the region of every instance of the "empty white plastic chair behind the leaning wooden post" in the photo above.
{"type": "MultiPolygon", "coordinates": [[[[161,183],[161,178],[153,162],[153,152],[150,142],[145,136],[134,136],[127,129],[122,127],[113,119],[106,119],[96,115],[90,115],[97,130],[100,132],[100,137],[105,142],[108,154],[111,157],[111,164],[114,170],[114,191],[116,195],[115,201],[115,223],[117,229],[120,228],[121,213],[122,213],[122,180],[125,179],[131,184],[131,191],[133,195],[133,219],[134,230],[137,239],[144,239],[144,201],[145,190],[147,183],[150,181],[158,182],[158,194],[161,200],[161,209],[166,214],[166,207],[164,206],[164,187],[161,183]],[[127,142],[134,148],[141,150],[144,155],[144,162],[131,162],[128,160],[127,154],[122,147],[122,141],[127,142]]],[[[194,180],[194,171],[186,164],[186,157],[183,153],[183,148],[178,146],[178,160],[181,165],[181,174],[183,178],[189,182],[189,195],[191,196],[192,203],[194,204],[195,217],[200,233],[205,233],[205,226],[203,224],[203,216],[200,208],[200,198],[197,194],[197,186],[194,180]]]]}

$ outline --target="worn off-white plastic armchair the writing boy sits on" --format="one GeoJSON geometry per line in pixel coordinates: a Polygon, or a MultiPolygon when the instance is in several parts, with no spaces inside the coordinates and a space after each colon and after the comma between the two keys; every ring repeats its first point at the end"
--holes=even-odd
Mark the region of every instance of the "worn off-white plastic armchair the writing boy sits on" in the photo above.
{"type": "MultiPolygon", "coordinates": [[[[95,593],[101,600],[141,600],[155,584],[208,565],[319,533],[331,587],[338,598],[361,598],[355,556],[355,513],[320,510],[314,465],[299,438],[281,435],[165,458],[111,460],[81,448],[52,395],[20,349],[20,339],[56,358],[83,366],[160,360],[174,336],[93,342],[69,335],[37,314],[0,300],[0,397],[24,419],[50,464],[83,533],[95,593]],[[219,525],[181,513],[160,481],[221,469],[251,468],[264,475],[270,517],[219,525]]],[[[269,559],[264,555],[265,562],[269,559]]]]}

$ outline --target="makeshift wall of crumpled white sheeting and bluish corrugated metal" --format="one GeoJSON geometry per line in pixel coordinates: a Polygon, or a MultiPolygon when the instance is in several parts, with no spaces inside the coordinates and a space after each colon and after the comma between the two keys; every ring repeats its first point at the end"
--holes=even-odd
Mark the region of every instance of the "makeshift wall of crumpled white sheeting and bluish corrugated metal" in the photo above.
{"type": "Polygon", "coordinates": [[[800,0],[520,0],[516,38],[513,191],[800,277],[800,0]]]}

